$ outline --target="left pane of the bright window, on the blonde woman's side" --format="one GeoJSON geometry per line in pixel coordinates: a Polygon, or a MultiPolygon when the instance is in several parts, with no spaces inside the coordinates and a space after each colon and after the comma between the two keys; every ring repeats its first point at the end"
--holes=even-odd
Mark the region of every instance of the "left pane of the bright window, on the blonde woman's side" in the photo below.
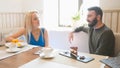
{"type": "Polygon", "coordinates": [[[56,27],[58,25],[58,0],[44,0],[43,25],[56,27]]]}

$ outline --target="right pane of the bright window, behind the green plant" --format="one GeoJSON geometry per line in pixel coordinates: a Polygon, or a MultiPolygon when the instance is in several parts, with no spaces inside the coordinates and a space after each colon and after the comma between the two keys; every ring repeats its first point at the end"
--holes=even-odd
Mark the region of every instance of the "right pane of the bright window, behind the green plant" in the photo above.
{"type": "Polygon", "coordinates": [[[78,0],[59,0],[59,26],[71,26],[72,17],[78,12],[78,0]]]}

